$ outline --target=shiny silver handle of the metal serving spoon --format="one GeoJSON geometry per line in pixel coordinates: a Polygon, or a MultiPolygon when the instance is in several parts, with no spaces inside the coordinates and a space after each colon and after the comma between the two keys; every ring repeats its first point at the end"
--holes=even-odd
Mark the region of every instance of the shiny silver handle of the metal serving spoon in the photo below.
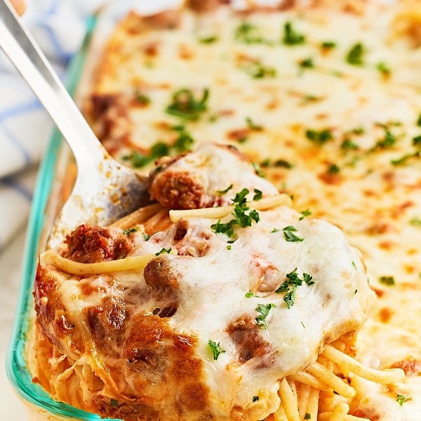
{"type": "Polygon", "coordinates": [[[100,163],[107,152],[8,0],[0,0],[0,48],[51,115],[71,147],[78,168],[93,168],[100,163]]]}

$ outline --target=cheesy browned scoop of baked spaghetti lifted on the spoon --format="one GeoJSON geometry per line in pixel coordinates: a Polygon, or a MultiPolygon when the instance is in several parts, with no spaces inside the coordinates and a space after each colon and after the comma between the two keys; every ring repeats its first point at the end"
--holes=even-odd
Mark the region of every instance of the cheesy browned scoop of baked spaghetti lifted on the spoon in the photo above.
{"type": "Polygon", "coordinates": [[[171,223],[164,210],[158,231],[156,217],[83,225],[44,255],[35,373],[55,399],[123,420],[262,420],[281,379],[284,405],[286,378],[308,369],[317,387],[319,353],[359,329],[373,293],[340,229],[288,206],[257,210],[253,187],[224,192],[219,220],[184,210],[171,223]]]}

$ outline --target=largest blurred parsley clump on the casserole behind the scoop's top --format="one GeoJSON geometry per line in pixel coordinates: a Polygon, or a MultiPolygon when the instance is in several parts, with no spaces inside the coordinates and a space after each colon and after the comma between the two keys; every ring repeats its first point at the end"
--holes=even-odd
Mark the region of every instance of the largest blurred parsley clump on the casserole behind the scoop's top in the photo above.
{"type": "Polygon", "coordinates": [[[180,119],[196,121],[201,113],[207,109],[206,103],[209,98],[208,88],[203,89],[201,98],[194,98],[190,89],[183,88],[173,93],[173,102],[166,107],[166,112],[180,119]]]}

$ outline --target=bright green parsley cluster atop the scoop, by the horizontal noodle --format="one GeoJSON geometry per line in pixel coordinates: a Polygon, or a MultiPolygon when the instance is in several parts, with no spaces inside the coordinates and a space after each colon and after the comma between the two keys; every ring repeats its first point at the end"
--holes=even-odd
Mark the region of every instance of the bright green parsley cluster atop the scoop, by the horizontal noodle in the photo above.
{"type": "Polygon", "coordinates": [[[241,192],[237,193],[233,199],[234,203],[234,216],[233,220],[222,223],[220,220],[210,228],[215,233],[226,234],[230,238],[234,237],[234,227],[239,225],[242,228],[251,227],[252,221],[259,222],[260,215],[257,210],[250,209],[246,203],[246,196],[250,191],[246,188],[242,189],[241,192]]]}

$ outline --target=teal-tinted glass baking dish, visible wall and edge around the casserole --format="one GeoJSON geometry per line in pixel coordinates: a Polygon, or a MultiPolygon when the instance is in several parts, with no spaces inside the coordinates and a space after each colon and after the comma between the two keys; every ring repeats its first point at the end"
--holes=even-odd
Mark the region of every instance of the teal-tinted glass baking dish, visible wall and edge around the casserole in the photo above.
{"type": "MultiPolygon", "coordinates": [[[[67,90],[78,98],[83,98],[88,89],[92,72],[95,69],[95,58],[101,53],[104,42],[119,19],[133,8],[142,13],[153,13],[177,4],[177,1],[145,1],[141,5],[135,0],[119,0],[102,8],[86,22],[86,37],[79,53],[72,60],[67,74],[67,90]]],[[[80,102],[79,102],[80,103],[80,102]]],[[[51,228],[57,210],[62,203],[62,182],[65,168],[69,163],[69,148],[63,145],[58,131],[54,131],[51,141],[39,169],[34,192],[32,209],[27,226],[26,243],[22,264],[22,285],[18,309],[13,326],[11,343],[6,359],[6,372],[11,385],[29,412],[29,420],[86,420],[100,421],[99,415],[87,413],[67,403],[54,401],[36,382],[27,366],[27,335],[34,317],[32,288],[36,272],[39,251],[43,250],[46,236],[51,228]]],[[[114,420],[116,421],[116,420],[114,420]]]]}

